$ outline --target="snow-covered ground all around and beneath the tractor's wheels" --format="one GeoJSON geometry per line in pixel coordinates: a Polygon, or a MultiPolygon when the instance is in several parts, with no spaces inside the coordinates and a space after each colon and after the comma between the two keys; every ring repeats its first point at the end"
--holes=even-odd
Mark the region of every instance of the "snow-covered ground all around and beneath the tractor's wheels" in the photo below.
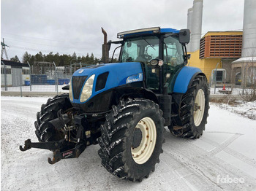
{"type": "Polygon", "coordinates": [[[48,150],[20,152],[26,139],[37,141],[34,120],[46,101],[1,97],[1,190],[255,190],[256,120],[211,104],[203,136],[178,139],[167,130],[160,163],[139,183],[109,174],[98,145],[55,165],[48,150]]]}

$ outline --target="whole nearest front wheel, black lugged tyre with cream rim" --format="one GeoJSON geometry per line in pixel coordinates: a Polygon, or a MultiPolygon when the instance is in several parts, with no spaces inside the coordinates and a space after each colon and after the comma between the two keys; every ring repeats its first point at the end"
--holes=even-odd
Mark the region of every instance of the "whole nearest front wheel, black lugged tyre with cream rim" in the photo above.
{"type": "Polygon", "coordinates": [[[98,142],[102,165],[115,176],[142,181],[159,163],[165,120],[153,101],[136,98],[113,106],[98,142]]]}

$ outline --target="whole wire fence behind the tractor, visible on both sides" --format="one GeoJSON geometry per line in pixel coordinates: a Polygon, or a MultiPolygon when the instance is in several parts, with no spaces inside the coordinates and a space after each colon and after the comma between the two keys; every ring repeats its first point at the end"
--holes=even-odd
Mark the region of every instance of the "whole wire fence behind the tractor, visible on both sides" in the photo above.
{"type": "MultiPolygon", "coordinates": [[[[70,66],[56,66],[55,63],[35,62],[32,66],[13,67],[1,62],[1,95],[26,96],[58,95],[68,93],[62,87],[69,85],[72,73],[88,66],[86,63],[71,63],[70,66]]],[[[256,66],[248,69],[201,69],[208,79],[211,94],[219,94],[225,86],[229,90],[236,89],[236,94],[244,94],[247,89],[256,88],[256,66]],[[244,73],[243,73],[243,72],[244,73]]],[[[235,91],[235,90],[234,90],[235,91]]]]}

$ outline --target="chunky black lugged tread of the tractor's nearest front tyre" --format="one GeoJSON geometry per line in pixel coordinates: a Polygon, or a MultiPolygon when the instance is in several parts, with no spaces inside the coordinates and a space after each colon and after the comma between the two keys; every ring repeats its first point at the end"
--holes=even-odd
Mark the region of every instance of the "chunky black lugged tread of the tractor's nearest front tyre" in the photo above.
{"type": "MultiPolygon", "coordinates": [[[[144,174],[143,177],[138,177],[132,174],[132,169],[125,167],[127,158],[124,157],[124,133],[127,128],[129,128],[129,121],[132,120],[135,115],[140,114],[141,109],[156,109],[157,111],[157,109],[159,110],[159,106],[153,101],[135,98],[128,99],[128,101],[121,101],[118,106],[113,106],[112,108],[112,112],[106,114],[105,124],[100,127],[102,136],[98,139],[100,146],[98,154],[102,159],[102,165],[111,174],[121,179],[141,182],[144,177],[148,177],[149,173],[144,174]]],[[[157,112],[157,114],[160,113],[161,112],[157,112]]],[[[161,122],[163,122],[163,118],[161,122]]],[[[159,162],[159,158],[157,162],[159,162]]],[[[150,171],[152,171],[154,166],[148,168],[151,168],[150,171]]]]}

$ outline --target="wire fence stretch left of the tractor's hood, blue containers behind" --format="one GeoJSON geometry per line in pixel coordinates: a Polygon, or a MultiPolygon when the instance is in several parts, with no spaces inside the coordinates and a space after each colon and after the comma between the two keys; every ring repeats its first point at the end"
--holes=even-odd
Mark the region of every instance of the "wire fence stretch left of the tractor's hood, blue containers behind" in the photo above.
{"type": "Polygon", "coordinates": [[[59,95],[68,93],[62,87],[69,85],[72,73],[85,63],[56,66],[55,63],[35,62],[32,66],[8,66],[1,62],[1,95],[59,95]]]}

